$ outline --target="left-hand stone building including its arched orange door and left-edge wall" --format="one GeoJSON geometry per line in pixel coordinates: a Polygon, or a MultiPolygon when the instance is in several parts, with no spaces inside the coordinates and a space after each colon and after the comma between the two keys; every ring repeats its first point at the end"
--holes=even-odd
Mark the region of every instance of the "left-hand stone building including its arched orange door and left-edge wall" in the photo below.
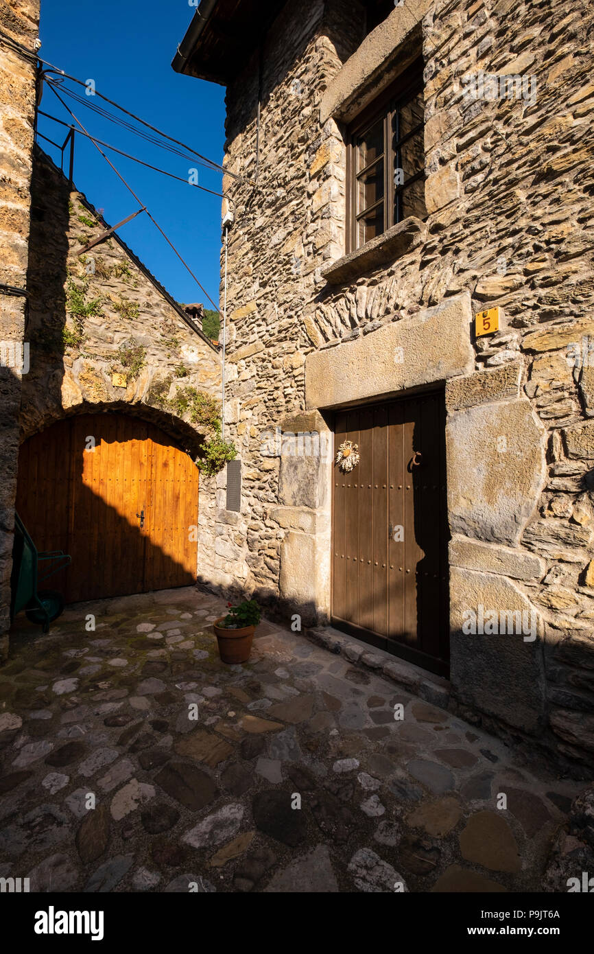
{"type": "Polygon", "coordinates": [[[33,147],[38,13],[0,14],[0,656],[15,508],[70,602],[195,582],[215,509],[218,346],[33,147]]]}

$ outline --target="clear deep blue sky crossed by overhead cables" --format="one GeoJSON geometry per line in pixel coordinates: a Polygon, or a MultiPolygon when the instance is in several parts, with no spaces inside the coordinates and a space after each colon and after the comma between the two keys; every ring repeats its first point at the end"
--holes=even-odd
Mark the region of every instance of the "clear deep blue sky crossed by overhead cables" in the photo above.
{"type": "MultiPolygon", "coordinates": [[[[195,7],[189,6],[187,0],[42,0],[39,54],[84,82],[94,80],[100,93],[220,163],[224,145],[224,88],[174,73],[171,66],[177,44],[194,12],[195,7]]],[[[86,96],[83,87],[68,81],[66,85],[82,94],[85,101],[117,112],[98,97],[86,96]]],[[[92,135],[176,176],[188,178],[193,164],[187,158],[164,152],[94,114],[86,105],[68,96],[63,98],[92,135]]],[[[47,88],[41,109],[69,124],[73,122],[47,88]]],[[[68,134],[65,127],[43,116],[39,117],[39,132],[59,143],[68,134]]],[[[59,152],[44,140],[40,140],[40,145],[59,164],[59,152]]],[[[154,173],[123,156],[105,152],[218,302],[221,199],[154,173]]],[[[199,165],[195,168],[200,185],[221,191],[219,173],[199,165]]],[[[66,156],[65,169],[68,171],[66,156]]],[[[83,136],[76,137],[74,181],[95,207],[104,209],[104,218],[112,225],[138,208],[105,159],[83,136]]],[[[120,235],[176,301],[204,301],[211,307],[144,213],[123,226],[120,235]]]]}

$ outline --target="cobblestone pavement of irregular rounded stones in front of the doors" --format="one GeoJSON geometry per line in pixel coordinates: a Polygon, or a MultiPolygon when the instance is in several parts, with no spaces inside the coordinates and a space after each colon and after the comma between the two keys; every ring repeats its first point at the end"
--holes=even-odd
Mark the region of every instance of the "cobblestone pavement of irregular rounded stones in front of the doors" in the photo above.
{"type": "Polygon", "coordinates": [[[211,626],[224,608],[188,588],[78,604],[48,636],[19,617],[0,669],[0,877],[42,891],[543,890],[584,783],[530,770],[272,623],[248,664],[226,666],[211,626]]]}

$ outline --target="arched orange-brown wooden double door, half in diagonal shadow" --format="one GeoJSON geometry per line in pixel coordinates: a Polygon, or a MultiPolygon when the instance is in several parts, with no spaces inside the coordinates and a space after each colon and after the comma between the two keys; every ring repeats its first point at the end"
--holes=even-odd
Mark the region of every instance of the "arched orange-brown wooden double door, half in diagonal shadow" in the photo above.
{"type": "Polygon", "coordinates": [[[19,453],[16,510],[38,550],[72,566],[49,581],[67,602],[195,582],[198,469],[157,426],[84,414],[19,453]]]}

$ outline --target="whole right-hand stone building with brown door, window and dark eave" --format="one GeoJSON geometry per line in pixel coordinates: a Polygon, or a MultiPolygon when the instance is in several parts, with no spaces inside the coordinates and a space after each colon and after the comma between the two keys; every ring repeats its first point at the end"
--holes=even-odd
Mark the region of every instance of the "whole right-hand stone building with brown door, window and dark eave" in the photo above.
{"type": "Polygon", "coordinates": [[[241,508],[221,476],[202,577],[449,675],[452,708],[583,763],[593,15],[202,0],[173,64],[227,87],[236,213],[241,508]]]}

